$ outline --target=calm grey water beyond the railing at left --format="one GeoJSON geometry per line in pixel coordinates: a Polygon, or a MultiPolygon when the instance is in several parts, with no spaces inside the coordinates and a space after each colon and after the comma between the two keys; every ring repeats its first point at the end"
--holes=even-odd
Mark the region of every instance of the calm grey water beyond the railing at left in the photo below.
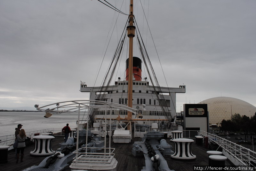
{"type": "MultiPolygon", "coordinates": [[[[78,113],[53,114],[44,118],[43,112],[0,112],[0,136],[14,134],[18,124],[26,132],[47,128],[63,128],[69,124],[70,128],[76,128],[78,113]]],[[[80,113],[80,120],[85,120],[86,115],[80,113]]]]}

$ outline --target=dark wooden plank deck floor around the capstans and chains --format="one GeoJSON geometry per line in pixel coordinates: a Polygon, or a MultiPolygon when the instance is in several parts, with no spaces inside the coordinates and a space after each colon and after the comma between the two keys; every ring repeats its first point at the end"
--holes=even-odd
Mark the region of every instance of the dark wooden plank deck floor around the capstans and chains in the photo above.
{"type": "MultiPolygon", "coordinates": [[[[52,141],[52,149],[57,150],[59,143],[64,141],[64,137],[56,136],[52,141]]],[[[135,137],[131,143],[111,143],[111,148],[115,148],[115,158],[118,161],[117,171],[140,171],[145,166],[144,157],[134,157],[132,155],[132,144],[135,141],[141,141],[141,138],[135,137]]],[[[174,143],[170,141],[170,138],[166,139],[168,144],[174,147],[174,143]]],[[[107,144],[109,139],[107,138],[107,144]]],[[[113,142],[113,141],[112,141],[113,142]]],[[[34,150],[34,145],[27,146],[24,151],[24,161],[16,164],[15,151],[10,150],[8,152],[8,163],[0,164],[0,168],[3,171],[21,171],[33,165],[38,165],[45,157],[30,156],[30,151],[34,150]]],[[[208,154],[209,149],[204,146],[198,146],[195,142],[192,144],[192,153],[196,155],[196,159],[193,160],[177,160],[172,159],[170,155],[165,155],[164,158],[168,163],[169,168],[175,171],[191,171],[194,166],[208,166],[208,154]]],[[[232,166],[232,163],[227,160],[226,166],[232,166]]],[[[63,171],[70,171],[69,167],[65,167],[63,171]]]]}

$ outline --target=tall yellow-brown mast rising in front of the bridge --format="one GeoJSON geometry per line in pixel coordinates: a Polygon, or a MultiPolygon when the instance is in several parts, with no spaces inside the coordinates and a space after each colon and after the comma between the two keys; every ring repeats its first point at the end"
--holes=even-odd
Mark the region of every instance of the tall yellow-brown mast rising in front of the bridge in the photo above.
{"type": "MultiPolygon", "coordinates": [[[[135,26],[133,26],[133,0],[130,4],[129,26],[127,27],[129,37],[129,74],[128,74],[128,107],[132,107],[132,64],[133,64],[133,37],[135,36],[135,26]]],[[[132,119],[132,113],[128,111],[127,120],[132,119]]]]}

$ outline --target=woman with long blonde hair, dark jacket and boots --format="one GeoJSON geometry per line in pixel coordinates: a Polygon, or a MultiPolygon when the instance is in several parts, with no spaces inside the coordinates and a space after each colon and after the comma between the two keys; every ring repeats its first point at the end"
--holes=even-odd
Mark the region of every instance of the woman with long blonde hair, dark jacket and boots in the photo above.
{"type": "Polygon", "coordinates": [[[18,139],[18,146],[17,146],[17,158],[16,158],[16,163],[18,163],[19,161],[19,157],[20,157],[20,162],[23,161],[23,156],[24,156],[24,149],[26,147],[25,144],[25,139],[26,139],[26,133],[24,129],[20,130],[20,134],[17,135],[17,139],[18,139]],[[21,154],[20,154],[21,153],[21,154]]]}

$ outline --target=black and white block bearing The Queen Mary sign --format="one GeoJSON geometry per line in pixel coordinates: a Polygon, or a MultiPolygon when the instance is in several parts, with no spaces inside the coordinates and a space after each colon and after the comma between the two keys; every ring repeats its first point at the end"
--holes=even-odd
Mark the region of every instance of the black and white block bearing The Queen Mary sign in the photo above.
{"type": "Polygon", "coordinates": [[[207,104],[184,104],[183,107],[184,130],[209,131],[207,104]]]}

